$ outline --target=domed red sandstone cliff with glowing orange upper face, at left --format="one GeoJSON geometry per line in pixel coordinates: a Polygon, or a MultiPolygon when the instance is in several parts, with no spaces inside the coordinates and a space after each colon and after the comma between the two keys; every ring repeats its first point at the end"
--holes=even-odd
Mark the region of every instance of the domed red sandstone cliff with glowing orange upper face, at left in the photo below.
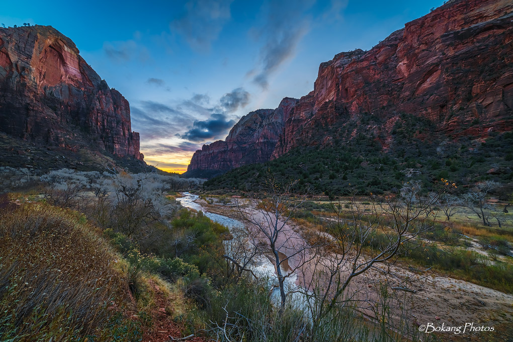
{"type": "Polygon", "coordinates": [[[143,159],[128,101],[51,26],[0,28],[0,131],[143,159]]]}

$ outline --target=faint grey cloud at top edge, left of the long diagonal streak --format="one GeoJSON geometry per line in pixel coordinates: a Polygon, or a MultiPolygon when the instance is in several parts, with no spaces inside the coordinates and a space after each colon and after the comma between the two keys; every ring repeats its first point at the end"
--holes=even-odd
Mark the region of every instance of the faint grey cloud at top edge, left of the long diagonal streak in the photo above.
{"type": "Polygon", "coordinates": [[[171,31],[181,34],[194,50],[205,51],[218,38],[231,17],[233,0],[190,0],[185,13],[170,23],[171,31]]]}

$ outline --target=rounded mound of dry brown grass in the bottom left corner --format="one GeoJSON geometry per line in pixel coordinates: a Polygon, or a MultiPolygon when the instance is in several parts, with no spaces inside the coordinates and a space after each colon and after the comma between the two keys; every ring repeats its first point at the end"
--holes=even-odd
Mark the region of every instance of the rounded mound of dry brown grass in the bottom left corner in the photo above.
{"type": "Polygon", "coordinates": [[[137,340],[126,275],[84,216],[25,204],[0,214],[0,239],[0,340],[137,340]]]}

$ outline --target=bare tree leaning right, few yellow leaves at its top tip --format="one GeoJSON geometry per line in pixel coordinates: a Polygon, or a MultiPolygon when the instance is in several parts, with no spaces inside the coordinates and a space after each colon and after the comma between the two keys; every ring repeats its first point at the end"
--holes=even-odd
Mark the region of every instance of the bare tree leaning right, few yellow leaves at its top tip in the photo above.
{"type": "MultiPolygon", "coordinates": [[[[447,186],[421,196],[420,183],[414,182],[406,184],[397,196],[371,197],[365,205],[356,197],[331,202],[336,216],[329,227],[329,244],[310,264],[310,274],[303,273],[305,288],[314,289],[305,292],[313,320],[312,340],[324,324],[329,324],[326,319],[334,311],[372,300],[368,294],[358,297],[366,290],[351,285],[359,276],[382,274],[404,284],[411,281],[394,272],[392,266],[400,255],[424,246],[426,233],[444,228],[435,224],[433,208],[447,186]]],[[[409,291],[406,287],[397,289],[409,291]]]]}

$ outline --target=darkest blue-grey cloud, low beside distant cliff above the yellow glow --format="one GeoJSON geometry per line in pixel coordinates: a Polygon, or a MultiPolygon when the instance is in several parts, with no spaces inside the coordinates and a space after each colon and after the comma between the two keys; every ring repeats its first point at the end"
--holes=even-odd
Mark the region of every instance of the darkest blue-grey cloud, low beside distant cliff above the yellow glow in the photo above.
{"type": "Polygon", "coordinates": [[[217,139],[228,132],[235,124],[234,120],[228,120],[224,114],[212,114],[208,120],[196,120],[181,137],[193,142],[217,139]]]}

